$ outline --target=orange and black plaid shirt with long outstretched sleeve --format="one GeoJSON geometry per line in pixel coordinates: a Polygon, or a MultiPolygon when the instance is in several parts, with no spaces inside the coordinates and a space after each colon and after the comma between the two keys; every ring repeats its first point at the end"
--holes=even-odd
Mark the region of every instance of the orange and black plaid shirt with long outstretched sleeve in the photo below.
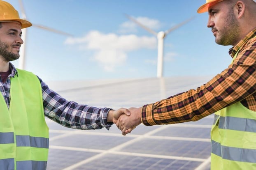
{"type": "Polygon", "coordinates": [[[256,28],[230,49],[227,69],[205,85],[142,107],[142,123],[175,124],[197,121],[222,108],[241,102],[256,111],[256,28]]]}

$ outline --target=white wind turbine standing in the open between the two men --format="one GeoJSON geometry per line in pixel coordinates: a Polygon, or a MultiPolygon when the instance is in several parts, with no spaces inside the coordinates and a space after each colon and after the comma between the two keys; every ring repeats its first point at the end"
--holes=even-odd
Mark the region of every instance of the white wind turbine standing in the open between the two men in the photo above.
{"type": "Polygon", "coordinates": [[[181,27],[185,23],[191,21],[194,17],[189,18],[186,21],[183,21],[182,23],[179,23],[178,25],[175,25],[174,27],[170,28],[169,30],[166,31],[160,31],[160,32],[155,32],[151,30],[150,28],[146,27],[142,23],[138,22],[135,18],[129,16],[126,14],[126,17],[129,18],[131,21],[142,27],[143,29],[147,30],[151,34],[155,35],[158,39],[158,57],[157,57],[157,77],[161,78],[163,77],[163,40],[166,37],[167,34],[172,32],[173,30],[176,30],[177,28],[181,27]]]}

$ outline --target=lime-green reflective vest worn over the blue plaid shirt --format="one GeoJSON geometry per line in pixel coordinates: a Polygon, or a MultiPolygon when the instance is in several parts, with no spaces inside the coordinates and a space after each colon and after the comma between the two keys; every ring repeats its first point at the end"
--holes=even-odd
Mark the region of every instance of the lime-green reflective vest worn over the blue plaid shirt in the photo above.
{"type": "Polygon", "coordinates": [[[9,109],[0,95],[0,169],[46,170],[49,128],[37,76],[18,70],[11,77],[9,109]]]}

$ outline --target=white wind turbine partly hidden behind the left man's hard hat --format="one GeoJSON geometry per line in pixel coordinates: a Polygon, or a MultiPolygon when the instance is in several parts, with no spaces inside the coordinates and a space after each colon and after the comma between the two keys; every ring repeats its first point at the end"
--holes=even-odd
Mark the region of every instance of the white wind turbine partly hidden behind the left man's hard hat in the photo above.
{"type": "MultiPolygon", "coordinates": [[[[24,10],[24,6],[23,6],[23,2],[22,0],[19,0],[19,6],[21,8],[21,18],[22,19],[27,19],[26,18],[26,13],[24,10]]],[[[32,23],[33,24],[33,23],[32,23]]],[[[71,36],[71,34],[63,32],[63,31],[59,31],[59,30],[55,30],[53,28],[49,28],[49,27],[45,27],[43,25],[38,25],[38,24],[33,24],[34,27],[40,28],[40,29],[44,29],[44,30],[48,30],[50,32],[55,32],[58,34],[63,34],[65,36],[71,36]]],[[[19,57],[19,69],[25,69],[25,62],[26,62],[26,32],[27,32],[27,28],[22,29],[22,39],[23,39],[23,45],[20,48],[20,57],[19,57]]]]}

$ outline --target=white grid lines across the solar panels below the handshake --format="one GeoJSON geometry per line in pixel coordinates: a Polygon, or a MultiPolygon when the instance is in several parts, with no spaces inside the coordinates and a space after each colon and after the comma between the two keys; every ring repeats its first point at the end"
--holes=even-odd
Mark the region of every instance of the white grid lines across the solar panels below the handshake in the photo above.
{"type": "MultiPolygon", "coordinates": [[[[50,123],[52,124],[52,123],[50,123]]],[[[144,125],[140,125],[140,126],[144,126],[144,125]]],[[[77,162],[77,160],[73,160],[72,165],[70,166],[66,166],[65,168],[60,168],[63,170],[72,170],[72,169],[76,169],[79,167],[81,168],[81,166],[86,166],[87,164],[90,164],[92,162],[94,162],[95,160],[98,162],[102,157],[106,157],[106,155],[108,156],[109,154],[112,155],[116,155],[117,159],[119,159],[119,156],[131,156],[131,157],[144,157],[144,158],[152,158],[152,159],[160,159],[160,160],[180,160],[180,161],[189,161],[189,162],[198,162],[198,166],[200,166],[200,164],[207,162],[206,158],[197,158],[197,156],[193,157],[186,157],[186,156],[169,156],[166,154],[149,154],[149,153],[138,153],[138,152],[129,152],[127,150],[125,150],[125,152],[123,152],[121,149],[123,147],[129,146],[129,145],[133,145],[136,142],[147,142],[147,139],[152,139],[152,140],[167,140],[167,141],[174,141],[177,140],[178,143],[177,145],[180,143],[179,141],[195,141],[195,142],[204,142],[204,143],[208,143],[209,145],[209,139],[207,138],[180,138],[180,137],[174,137],[174,136],[155,136],[154,134],[158,133],[159,131],[163,131],[163,130],[168,130],[170,128],[170,126],[172,125],[164,125],[164,126],[159,126],[157,127],[157,129],[150,131],[149,133],[146,133],[144,135],[135,135],[135,134],[128,134],[127,136],[121,136],[120,133],[104,133],[104,132],[91,132],[91,131],[81,131],[81,130],[72,130],[72,132],[70,132],[70,130],[50,130],[50,134],[58,134],[53,136],[52,138],[50,138],[50,150],[51,151],[55,151],[55,150],[64,150],[64,151],[69,151],[68,153],[70,155],[73,155],[73,152],[80,152],[81,154],[84,153],[94,153],[92,156],[88,157],[87,159],[82,159],[82,161],[77,162]],[[67,147],[67,146],[59,146],[59,145],[51,145],[51,143],[56,140],[56,143],[60,144],[61,141],[63,141],[63,139],[69,140],[70,138],[72,138],[72,136],[86,136],[86,138],[90,138],[90,136],[95,136],[96,138],[113,138],[113,137],[118,137],[118,138],[129,138],[130,140],[128,140],[126,143],[122,143],[116,147],[112,147],[108,150],[105,149],[91,149],[91,148],[83,148],[83,147],[67,147]],[[118,156],[119,155],[119,156],[118,156]]],[[[186,124],[184,124],[184,126],[188,126],[186,124]]],[[[198,126],[198,125],[189,125],[189,126],[198,126]]],[[[202,125],[200,125],[202,126],[202,125]]],[[[146,127],[144,127],[146,128],[146,127]]],[[[207,128],[205,128],[207,129],[207,128]]],[[[208,129],[209,130],[209,129],[208,129]]],[[[65,140],[64,140],[65,141],[65,140]]],[[[86,142],[86,141],[84,141],[86,142]]],[[[81,144],[79,144],[81,145],[81,144]]],[[[97,146],[95,147],[97,148],[97,146]]],[[[165,150],[166,148],[161,148],[159,147],[159,149],[163,149],[165,150]]],[[[128,149],[129,150],[129,149],[128,149]]],[[[149,151],[150,152],[150,151],[149,151]]],[[[195,154],[197,152],[195,151],[195,154]]],[[[197,154],[199,154],[200,152],[198,152],[197,154]]],[[[209,156],[209,152],[208,152],[208,156],[209,156]]],[[[208,163],[209,164],[209,163],[208,163]]],[[[51,161],[49,160],[49,165],[51,165],[51,161]]],[[[177,164],[175,164],[177,165],[177,164]]],[[[158,165],[158,167],[161,167],[161,164],[158,165]]],[[[186,167],[186,166],[185,166],[186,167]]],[[[155,167],[156,168],[156,167],[155,167]]],[[[163,167],[162,167],[163,168],[163,167]]],[[[193,167],[195,168],[195,167],[193,167]]],[[[47,169],[51,169],[50,167],[47,169]]],[[[53,168],[53,169],[56,169],[53,168]]],[[[86,168],[85,168],[86,169],[86,168]]],[[[122,170],[122,168],[116,167],[116,170],[122,170]]]]}

